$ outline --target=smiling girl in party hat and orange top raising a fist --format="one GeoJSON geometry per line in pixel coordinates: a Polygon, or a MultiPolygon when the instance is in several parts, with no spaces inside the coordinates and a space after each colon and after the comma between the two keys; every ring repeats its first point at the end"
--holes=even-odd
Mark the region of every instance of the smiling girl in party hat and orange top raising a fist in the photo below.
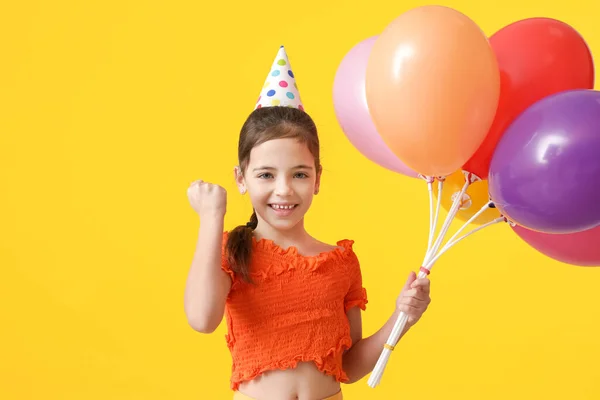
{"type": "Polygon", "coordinates": [[[399,313],[409,316],[404,334],[430,302],[429,280],[411,273],[385,325],[362,337],[367,294],[353,242],[329,245],[304,228],[322,171],[317,129],[295,84],[269,92],[293,78],[282,47],[267,100],[259,98],[240,133],[235,176],[254,208],[250,221],[224,232],[225,190],[203,181],[188,188],[201,224],[185,312],[203,333],[226,316],[234,399],[340,400],[340,383],[373,370],[399,313]]]}

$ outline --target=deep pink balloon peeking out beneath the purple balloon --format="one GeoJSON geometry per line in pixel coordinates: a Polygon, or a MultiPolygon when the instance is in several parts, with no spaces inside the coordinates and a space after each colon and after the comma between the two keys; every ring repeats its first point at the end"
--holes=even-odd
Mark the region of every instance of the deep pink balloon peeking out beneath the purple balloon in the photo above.
{"type": "Polygon", "coordinates": [[[535,232],[518,225],[513,230],[531,247],[557,261],[583,267],[600,266],[600,227],[562,235],[535,232]]]}

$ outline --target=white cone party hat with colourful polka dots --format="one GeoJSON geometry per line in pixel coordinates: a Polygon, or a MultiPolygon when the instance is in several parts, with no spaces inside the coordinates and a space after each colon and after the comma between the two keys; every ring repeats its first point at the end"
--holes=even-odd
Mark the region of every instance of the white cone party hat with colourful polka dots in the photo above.
{"type": "Polygon", "coordinates": [[[283,46],[279,48],[254,109],[284,106],[304,111],[296,78],[283,46]]]}

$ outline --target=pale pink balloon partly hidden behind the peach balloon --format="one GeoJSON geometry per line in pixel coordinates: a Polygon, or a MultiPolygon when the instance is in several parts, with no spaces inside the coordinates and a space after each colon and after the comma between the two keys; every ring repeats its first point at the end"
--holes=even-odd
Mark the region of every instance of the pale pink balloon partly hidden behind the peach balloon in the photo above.
{"type": "Polygon", "coordinates": [[[377,36],[354,46],[340,63],[333,82],[333,105],[342,131],[369,160],[391,171],[417,178],[418,174],[387,147],[371,119],[365,93],[365,75],[377,36]]]}

